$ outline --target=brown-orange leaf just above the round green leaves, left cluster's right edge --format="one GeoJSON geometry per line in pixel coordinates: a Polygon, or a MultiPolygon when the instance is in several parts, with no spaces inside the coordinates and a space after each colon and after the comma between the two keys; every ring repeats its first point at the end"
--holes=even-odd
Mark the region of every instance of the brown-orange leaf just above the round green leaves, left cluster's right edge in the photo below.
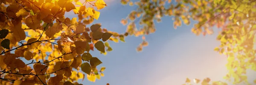
{"type": "Polygon", "coordinates": [[[84,51],[86,50],[87,42],[84,42],[84,41],[76,41],[76,42],[75,42],[75,45],[76,45],[76,53],[77,53],[77,54],[83,54],[84,51]]]}

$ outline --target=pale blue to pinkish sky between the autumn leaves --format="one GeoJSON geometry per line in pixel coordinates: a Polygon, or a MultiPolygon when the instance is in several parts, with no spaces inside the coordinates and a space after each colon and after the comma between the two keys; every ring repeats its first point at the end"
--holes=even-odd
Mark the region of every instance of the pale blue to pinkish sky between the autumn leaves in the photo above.
{"type": "MultiPolygon", "coordinates": [[[[105,0],[107,7],[100,10],[99,20],[102,28],[109,31],[124,33],[126,26],[120,23],[130,11],[136,7],[122,6],[119,0],[105,0]]],[[[73,12],[66,17],[77,17],[73,12]]],[[[193,23],[193,22],[192,22],[193,23]]],[[[194,22],[195,23],[195,22],[194,22]]],[[[146,36],[149,42],[142,52],[136,47],[142,42],[141,37],[129,36],[126,42],[110,41],[113,51],[107,55],[93,51],[93,57],[98,57],[105,66],[105,77],[96,82],[79,80],[84,85],[181,85],[186,77],[225,81],[227,57],[213,49],[220,45],[216,40],[218,29],[207,36],[196,36],[191,32],[193,24],[173,28],[172,17],[163,17],[161,23],[156,23],[157,31],[146,36]]],[[[255,73],[250,73],[248,81],[253,81],[255,73]]]]}

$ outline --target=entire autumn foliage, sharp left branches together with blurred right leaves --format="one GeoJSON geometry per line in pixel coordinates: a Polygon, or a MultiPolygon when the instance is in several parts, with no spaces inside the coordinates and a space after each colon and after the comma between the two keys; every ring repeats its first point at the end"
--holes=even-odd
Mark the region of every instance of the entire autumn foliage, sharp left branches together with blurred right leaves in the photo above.
{"type": "MultiPolygon", "coordinates": [[[[234,84],[247,81],[246,70],[256,71],[256,0],[121,0],[137,6],[120,22],[127,25],[124,34],[102,28],[98,20],[104,0],[1,0],[0,1],[0,84],[1,85],[75,85],[78,79],[95,82],[104,77],[105,67],[90,51],[112,51],[108,41],[125,42],[125,37],[143,36],[137,47],[148,45],[146,35],[156,31],[155,22],[173,17],[173,27],[197,22],[191,29],[196,35],[213,34],[221,45],[214,48],[227,56],[228,73],[234,84]],[[78,17],[64,16],[73,10],[78,17]],[[137,28],[139,22],[140,27],[137,28]],[[26,60],[20,59],[24,57],[26,60]]],[[[256,80],[255,80],[256,81],[256,80]]],[[[185,84],[191,84],[189,78],[185,84]]],[[[194,79],[208,85],[209,78],[194,79]]],[[[109,85],[109,84],[107,84],[109,85]]],[[[212,82],[211,85],[227,85],[212,82]]]]}

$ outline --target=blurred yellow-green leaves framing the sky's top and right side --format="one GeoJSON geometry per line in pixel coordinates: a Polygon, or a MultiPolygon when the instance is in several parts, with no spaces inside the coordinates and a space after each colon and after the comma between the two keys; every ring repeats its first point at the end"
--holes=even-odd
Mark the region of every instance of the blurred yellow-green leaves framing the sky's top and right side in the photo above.
{"type": "MultiPolygon", "coordinates": [[[[256,71],[256,0],[121,0],[123,5],[138,6],[121,23],[127,25],[129,35],[145,36],[155,31],[154,21],[164,16],[173,17],[173,27],[182,22],[189,25],[196,35],[213,34],[213,28],[221,28],[217,40],[221,45],[214,50],[227,55],[228,74],[224,77],[234,84],[246,83],[246,70],[256,71]],[[140,21],[140,29],[136,24],[140,21]]],[[[137,48],[142,51],[142,46],[137,48]]]]}

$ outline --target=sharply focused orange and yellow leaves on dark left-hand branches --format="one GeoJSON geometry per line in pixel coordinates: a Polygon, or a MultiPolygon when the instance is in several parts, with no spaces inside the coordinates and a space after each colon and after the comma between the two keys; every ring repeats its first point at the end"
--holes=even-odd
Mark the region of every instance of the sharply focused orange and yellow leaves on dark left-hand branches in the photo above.
{"type": "Polygon", "coordinates": [[[85,75],[91,82],[104,77],[105,67],[98,70],[102,62],[89,52],[112,51],[113,32],[86,25],[99,18],[94,8],[105,6],[103,0],[0,0],[0,84],[74,85],[85,75]],[[71,10],[78,19],[64,16],[71,10]]]}

